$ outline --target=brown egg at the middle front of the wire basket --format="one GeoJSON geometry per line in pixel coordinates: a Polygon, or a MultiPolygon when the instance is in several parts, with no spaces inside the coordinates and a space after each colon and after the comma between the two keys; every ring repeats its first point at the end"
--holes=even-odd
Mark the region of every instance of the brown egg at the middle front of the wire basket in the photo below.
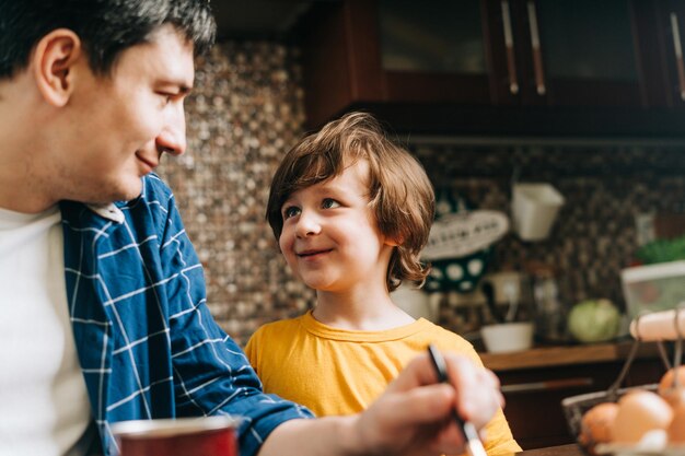
{"type": "Polygon", "coordinates": [[[651,430],[666,430],[673,409],[661,396],[648,390],[631,391],[618,400],[611,429],[612,441],[637,443],[651,430]]]}

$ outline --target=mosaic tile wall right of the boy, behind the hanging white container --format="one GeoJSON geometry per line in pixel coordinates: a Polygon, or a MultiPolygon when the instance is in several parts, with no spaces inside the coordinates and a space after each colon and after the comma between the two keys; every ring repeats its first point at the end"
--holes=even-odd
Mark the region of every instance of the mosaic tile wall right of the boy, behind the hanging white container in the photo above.
{"type": "MultiPolygon", "coordinates": [[[[490,269],[525,271],[533,261],[552,266],[567,309],[591,297],[608,297],[623,307],[620,270],[635,259],[636,215],[685,213],[685,144],[411,149],[436,188],[510,218],[513,179],[550,183],[559,190],[566,202],[549,237],[523,242],[510,232],[497,244],[490,269]]],[[[458,329],[455,315],[443,304],[442,324],[458,329]]]]}

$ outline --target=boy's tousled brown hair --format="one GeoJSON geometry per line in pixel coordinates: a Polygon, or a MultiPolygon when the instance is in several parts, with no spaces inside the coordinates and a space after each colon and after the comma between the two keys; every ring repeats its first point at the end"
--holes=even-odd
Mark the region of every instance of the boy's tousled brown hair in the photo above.
{"type": "Polygon", "coordinates": [[[283,229],[282,204],[294,191],[334,178],[358,160],[369,163],[369,204],[379,229],[397,243],[387,268],[388,291],[403,280],[422,283],[429,267],[419,256],[433,222],[433,188],[421,164],[367,113],[349,113],[326,124],[286,154],[271,180],[266,210],[276,239],[283,229]]]}

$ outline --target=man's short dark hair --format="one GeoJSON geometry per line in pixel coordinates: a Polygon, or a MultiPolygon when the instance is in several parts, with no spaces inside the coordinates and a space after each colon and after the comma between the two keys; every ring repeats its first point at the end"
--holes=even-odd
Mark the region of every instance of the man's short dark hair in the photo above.
{"type": "Polygon", "coordinates": [[[81,38],[91,69],[107,74],[120,52],[171,24],[206,52],[216,23],[209,0],[0,0],[0,79],[26,68],[34,46],[56,28],[81,38]]]}

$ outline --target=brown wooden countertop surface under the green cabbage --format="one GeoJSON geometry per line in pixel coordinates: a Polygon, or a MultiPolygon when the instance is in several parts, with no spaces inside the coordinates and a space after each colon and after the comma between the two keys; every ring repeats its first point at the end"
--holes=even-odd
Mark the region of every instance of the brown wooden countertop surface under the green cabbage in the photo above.
{"type": "MultiPolygon", "coordinates": [[[[556,365],[589,364],[623,361],[628,356],[632,341],[587,343],[576,346],[544,346],[509,353],[479,353],[486,367],[495,371],[549,367],[556,365]]],[[[640,344],[638,359],[659,358],[654,342],[640,344]]]]}

